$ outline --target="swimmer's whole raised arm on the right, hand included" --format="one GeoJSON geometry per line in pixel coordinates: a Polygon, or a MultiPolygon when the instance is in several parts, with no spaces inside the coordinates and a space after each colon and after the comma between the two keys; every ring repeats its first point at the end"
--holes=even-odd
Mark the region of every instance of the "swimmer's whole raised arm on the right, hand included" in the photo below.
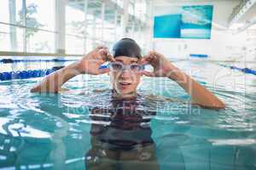
{"type": "Polygon", "coordinates": [[[145,76],[168,77],[172,79],[191,96],[193,104],[212,109],[224,109],[225,105],[220,99],[208,91],[207,88],[201,86],[200,83],[195,82],[193,78],[172,65],[163,55],[150,52],[142,59],[142,62],[144,64],[149,63],[154,67],[153,72],[143,71],[145,76]]]}

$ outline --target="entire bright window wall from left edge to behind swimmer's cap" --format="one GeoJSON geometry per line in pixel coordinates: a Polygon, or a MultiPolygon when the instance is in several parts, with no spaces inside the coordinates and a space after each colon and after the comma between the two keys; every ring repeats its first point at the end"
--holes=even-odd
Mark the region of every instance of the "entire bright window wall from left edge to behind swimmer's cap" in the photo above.
{"type": "MultiPolygon", "coordinates": [[[[123,0],[104,1],[103,21],[102,1],[88,1],[86,22],[84,2],[0,0],[0,51],[84,54],[97,45],[110,47],[123,37],[123,13],[119,10],[124,6],[123,0]]],[[[145,19],[147,3],[129,0],[128,6],[130,15],[126,31],[131,37],[143,40],[144,28],[137,20],[145,19]],[[136,21],[132,22],[134,18],[136,21]]]]}

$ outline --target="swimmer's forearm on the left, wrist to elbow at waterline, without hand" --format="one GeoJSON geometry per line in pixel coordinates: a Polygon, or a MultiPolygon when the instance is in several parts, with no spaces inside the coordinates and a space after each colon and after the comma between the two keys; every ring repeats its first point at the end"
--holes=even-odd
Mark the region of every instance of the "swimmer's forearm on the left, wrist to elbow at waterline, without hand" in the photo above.
{"type": "Polygon", "coordinates": [[[45,77],[42,82],[31,89],[31,92],[57,93],[61,86],[71,78],[80,74],[78,64],[67,65],[59,71],[55,71],[45,77]]]}

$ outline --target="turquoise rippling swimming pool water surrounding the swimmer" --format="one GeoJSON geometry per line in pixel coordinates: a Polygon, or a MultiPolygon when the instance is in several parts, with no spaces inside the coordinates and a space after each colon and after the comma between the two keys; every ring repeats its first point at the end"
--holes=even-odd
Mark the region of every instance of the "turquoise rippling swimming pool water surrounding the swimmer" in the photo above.
{"type": "MultiPolygon", "coordinates": [[[[0,71],[67,64],[4,64],[0,71]]],[[[138,165],[140,159],[147,159],[152,152],[154,159],[147,161],[148,165],[157,164],[165,170],[256,169],[255,76],[207,61],[174,64],[223,99],[227,108],[215,111],[191,106],[189,96],[176,82],[144,77],[138,93],[151,97],[143,98],[143,107],[138,110],[155,113],[143,115],[143,118],[150,117],[145,128],[149,126],[152,131],[154,147],[135,152],[124,150],[124,157],[129,152],[133,159],[120,160],[119,169],[127,168],[122,167],[126,162],[138,165]],[[160,97],[162,95],[168,99],[160,97]]],[[[90,161],[102,161],[103,156],[111,155],[110,151],[106,154],[102,145],[97,149],[93,147],[91,134],[93,125],[109,125],[108,121],[91,118],[95,108],[108,108],[108,76],[75,77],[64,86],[71,91],[61,94],[31,94],[29,90],[38,80],[40,78],[0,82],[0,167],[85,169],[90,161]],[[102,155],[93,155],[93,151],[102,151],[102,155]]],[[[113,134],[118,135],[116,131],[113,134]]],[[[113,161],[113,157],[109,156],[108,161],[113,161]]],[[[109,162],[105,162],[105,169],[109,162]]],[[[131,165],[128,167],[132,168],[131,165]]]]}

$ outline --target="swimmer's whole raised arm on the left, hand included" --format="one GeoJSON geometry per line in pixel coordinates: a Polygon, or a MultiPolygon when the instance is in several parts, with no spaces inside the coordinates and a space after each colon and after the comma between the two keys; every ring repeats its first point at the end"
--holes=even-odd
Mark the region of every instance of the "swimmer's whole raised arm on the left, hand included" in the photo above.
{"type": "Polygon", "coordinates": [[[73,77],[80,74],[100,75],[107,73],[109,69],[99,69],[100,65],[113,57],[107,48],[99,47],[85,55],[80,61],[67,65],[59,71],[55,71],[42,82],[31,89],[31,92],[58,93],[61,86],[73,77]]]}

